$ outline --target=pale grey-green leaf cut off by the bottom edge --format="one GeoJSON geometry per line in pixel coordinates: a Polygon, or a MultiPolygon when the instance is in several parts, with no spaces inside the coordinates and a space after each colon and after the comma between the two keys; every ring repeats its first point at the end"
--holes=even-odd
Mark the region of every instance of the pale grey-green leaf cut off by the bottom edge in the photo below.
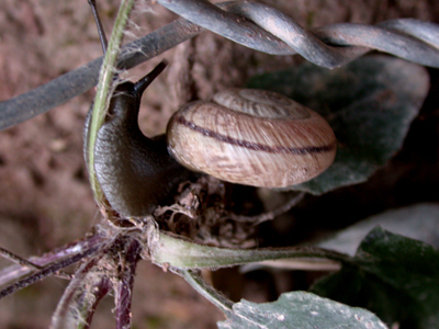
{"type": "Polygon", "coordinates": [[[334,329],[387,328],[372,313],[352,308],[311,293],[282,294],[277,302],[257,304],[241,300],[233,306],[233,315],[219,329],[297,328],[334,329]]]}

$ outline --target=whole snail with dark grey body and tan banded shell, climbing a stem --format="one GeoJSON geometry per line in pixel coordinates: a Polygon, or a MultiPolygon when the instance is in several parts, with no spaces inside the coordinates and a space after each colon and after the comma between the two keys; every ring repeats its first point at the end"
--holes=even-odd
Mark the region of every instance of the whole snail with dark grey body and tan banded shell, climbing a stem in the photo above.
{"type": "MultiPolygon", "coordinates": [[[[89,2],[93,8],[94,0],[89,2]]],[[[329,124],[293,100],[262,90],[229,89],[212,102],[191,102],[173,114],[166,136],[144,136],[137,122],[142,94],[165,66],[160,63],[136,83],[119,84],[98,132],[97,178],[122,217],[151,214],[193,171],[232,183],[284,188],[311,180],[334,161],[336,137],[329,124]]],[[[86,161],[90,118],[91,110],[86,161]]]]}

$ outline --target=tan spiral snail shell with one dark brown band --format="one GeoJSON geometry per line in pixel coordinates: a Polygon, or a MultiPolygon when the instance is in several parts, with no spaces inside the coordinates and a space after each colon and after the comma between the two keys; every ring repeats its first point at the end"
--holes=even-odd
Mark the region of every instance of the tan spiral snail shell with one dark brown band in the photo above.
{"type": "Polygon", "coordinates": [[[336,155],[336,137],[316,112],[281,94],[229,89],[184,105],[167,129],[182,166],[246,185],[284,188],[311,180],[336,155]]]}

